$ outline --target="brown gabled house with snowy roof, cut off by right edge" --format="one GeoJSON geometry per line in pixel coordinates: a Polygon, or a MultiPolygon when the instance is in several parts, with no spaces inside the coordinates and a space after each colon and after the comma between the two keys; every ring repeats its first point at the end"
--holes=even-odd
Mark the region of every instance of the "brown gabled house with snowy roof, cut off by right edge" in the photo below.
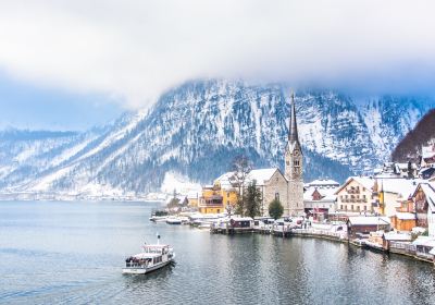
{"type": "Polygon", "coordinates": [[[412,194],[415,207],[417,225],[427,228],[428,235],[435,236],[435,187],[420,183],[412,194]]]}

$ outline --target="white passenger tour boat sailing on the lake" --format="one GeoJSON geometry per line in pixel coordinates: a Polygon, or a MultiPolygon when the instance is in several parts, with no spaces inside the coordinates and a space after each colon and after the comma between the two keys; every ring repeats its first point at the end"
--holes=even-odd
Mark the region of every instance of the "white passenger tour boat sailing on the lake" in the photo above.
{"type": "Polygon", "coordinates": [[[125,259],[124,274],[145,274],[166,266],[175,258],[170,245],[145,245],[144,252],[125,259]]]}

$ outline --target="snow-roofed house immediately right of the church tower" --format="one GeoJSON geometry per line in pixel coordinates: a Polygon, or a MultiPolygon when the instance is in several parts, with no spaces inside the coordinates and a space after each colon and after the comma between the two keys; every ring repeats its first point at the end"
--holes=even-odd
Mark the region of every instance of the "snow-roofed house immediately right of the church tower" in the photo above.
{"type": "Polygon", "coordinates": [[[304,186],[303,207],[306,213],[313,216],[314,220],[322,221],[328,212],[335,211],[335,203],[339,183],[334,180],[314,180],[304,186]]]}

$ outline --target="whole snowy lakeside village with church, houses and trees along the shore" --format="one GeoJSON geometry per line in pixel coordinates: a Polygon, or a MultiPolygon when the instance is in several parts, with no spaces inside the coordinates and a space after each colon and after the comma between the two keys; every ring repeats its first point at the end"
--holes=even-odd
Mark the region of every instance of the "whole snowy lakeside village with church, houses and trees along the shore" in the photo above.
{"type": "Polygon", "coordinates": [[[237,169],[200,194],[176,197],[150,220],[190,223],[212,233],[263,233],[346,242],[435,263],[435,143],[421,162],[384,163],[373,176],[303,184],[302,150],[291,99],[285,171],[237,169]],[[183,207],[183,208],[182,208],[183,207]]]}

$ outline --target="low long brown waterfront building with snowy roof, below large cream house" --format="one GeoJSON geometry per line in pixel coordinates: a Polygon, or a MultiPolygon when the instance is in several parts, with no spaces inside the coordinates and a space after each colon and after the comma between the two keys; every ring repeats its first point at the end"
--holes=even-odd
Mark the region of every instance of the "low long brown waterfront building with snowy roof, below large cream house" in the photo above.
{"type": "Polygon", "coordinates": [[[387,217],[357,216],[349,217],[347,221],[349,239],[356,239],[358,233],[369,234],[375,231],[389,231],[391,225],[387,217]]]}

